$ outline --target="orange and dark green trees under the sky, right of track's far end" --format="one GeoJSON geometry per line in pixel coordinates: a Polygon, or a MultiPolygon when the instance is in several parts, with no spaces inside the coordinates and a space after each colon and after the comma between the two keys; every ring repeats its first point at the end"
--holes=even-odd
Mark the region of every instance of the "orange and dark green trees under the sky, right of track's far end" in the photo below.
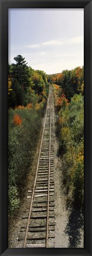
{"type": "Polygon", "coordinates": [[[47,79],[51,84],[60,86],[68,101],[71,101],[74,94],[84,94],[84,66],[78,66],[71,71],[66,69],[61,73],[47,75],[47,79]]]}

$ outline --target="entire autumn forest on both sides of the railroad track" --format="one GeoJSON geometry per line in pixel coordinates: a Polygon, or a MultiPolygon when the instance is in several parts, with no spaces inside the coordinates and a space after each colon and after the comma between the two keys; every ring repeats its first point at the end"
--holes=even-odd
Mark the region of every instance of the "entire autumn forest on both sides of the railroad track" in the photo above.
{"type": "Polygon", "coordinates": [[[35,71],[21,55],[8,65],[8,200],[9,216],[21,203],[47,106],[54,91],[58,155],[68,202],[83,210],[84,202],[84,68],[47,75],[35,71]]]}

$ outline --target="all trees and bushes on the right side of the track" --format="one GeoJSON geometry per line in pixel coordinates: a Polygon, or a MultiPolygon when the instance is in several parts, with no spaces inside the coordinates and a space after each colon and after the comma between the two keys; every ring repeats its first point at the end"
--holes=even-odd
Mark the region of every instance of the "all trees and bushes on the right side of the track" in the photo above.
{"type": "Polygon", "coordinates": [[[56,136],[67,204],[84,209],[84,68],[48,75],[54,88],[56,136]]]}

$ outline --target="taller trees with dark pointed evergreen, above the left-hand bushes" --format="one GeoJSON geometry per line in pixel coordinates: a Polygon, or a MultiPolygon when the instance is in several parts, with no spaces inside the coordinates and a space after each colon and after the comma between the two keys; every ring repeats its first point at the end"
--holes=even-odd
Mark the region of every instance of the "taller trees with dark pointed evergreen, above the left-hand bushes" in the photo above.
{"type": "Polygon", "coordinates": [[[9,107],[27,106],[33,101],[40,103],[46,98],[48,82],[44,71],[34,71],[27,66],[25,57],[14,57],[16,63],[8,65],[9,107]],[[38,100],[37,100],[38,97],[38,100]]]}

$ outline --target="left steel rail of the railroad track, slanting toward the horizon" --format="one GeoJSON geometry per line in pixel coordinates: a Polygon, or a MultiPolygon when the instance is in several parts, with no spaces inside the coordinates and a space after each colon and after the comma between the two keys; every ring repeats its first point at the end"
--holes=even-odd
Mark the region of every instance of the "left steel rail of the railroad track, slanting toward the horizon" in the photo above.
{"type": "MultiPolygon", "coordinates": [[[[49,103],[49,99],[50,99],[50,92],[49,92],[49,95],[48,95],[48,103],[49,103]]],[[[47,103],[47,110],[48,110],[48,103],[47,103]]],[[[45,114],[44,127],[43,127],[43,131],[42,131],[41,146],[42,146],[42,140],[43,140],[44,129],[45,129],[45,121],[46,121],[46,118],[47,118],[47,110],[46,110],[46,114],[45,114]]],[[[26,243],[27,243],[28,226],[29,226],[29,220],[30,220],[30,216],[31,216],[32,202],[33,202],[33,199],[34,199],[35,185],[36,185],[36,181],[37,181],[38,166],[39,166],[40,154],[41,154],[41,146],[40,146],[40,153],[39,153],[39,156],[38,156],[38,164],[37,164],[37,171],[36,171],[36,175],[35,175],[34,188],[33,188],[33,191],[32,191],[32,199],[31,199],[31,206],[30,206],[30,209],[29,209],[28,222],[27,222],[27,229],[26,229],[26,231],[25,231],[25,238],[24,238],[24,245],[23,245],[24,248],[25,248],[26,243]]]]}

